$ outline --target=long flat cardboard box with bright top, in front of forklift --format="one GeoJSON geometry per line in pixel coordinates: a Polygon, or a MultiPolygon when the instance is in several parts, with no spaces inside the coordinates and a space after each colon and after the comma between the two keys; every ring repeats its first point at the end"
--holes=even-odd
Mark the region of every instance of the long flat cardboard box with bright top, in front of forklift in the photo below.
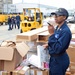
{"type": "Polygon", "coordinates": [[[33,41],[37,39],[37,34],[47,31],[47,26],[44,26],[42,28],[38,28],[32,31],[24,32],[17,34],[16,41],[33,41]]]}

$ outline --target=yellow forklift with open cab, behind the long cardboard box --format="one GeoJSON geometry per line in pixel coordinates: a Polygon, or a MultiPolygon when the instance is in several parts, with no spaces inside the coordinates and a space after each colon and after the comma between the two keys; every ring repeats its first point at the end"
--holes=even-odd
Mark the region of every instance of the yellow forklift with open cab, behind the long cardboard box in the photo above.
{"type": "Polygon", "coordinates": [[[24,8],[24,20],[20,22],[20,32],[27,32],[42,27],[42,13],[39,8],[24,8]]]}

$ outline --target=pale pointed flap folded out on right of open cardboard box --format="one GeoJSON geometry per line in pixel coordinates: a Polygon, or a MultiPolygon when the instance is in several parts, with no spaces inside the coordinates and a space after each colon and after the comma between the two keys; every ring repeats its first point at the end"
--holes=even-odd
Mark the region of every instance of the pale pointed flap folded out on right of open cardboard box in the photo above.
{"type": "Polygon", "coordinates": [[[28,50],[30,49],[29,46],[25,42],[17,43],[16,48],[22,57],[24,57],[27,54],[28,50]]]}

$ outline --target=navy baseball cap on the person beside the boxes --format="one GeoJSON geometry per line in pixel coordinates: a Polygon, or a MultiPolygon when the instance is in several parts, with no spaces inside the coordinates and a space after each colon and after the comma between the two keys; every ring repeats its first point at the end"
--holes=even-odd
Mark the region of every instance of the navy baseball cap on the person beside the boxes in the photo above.
{"type": "Polygon", "coordinates": [[[52,12],[51,15],[66,16],[66,19],[67,19],[69,16],[69,13],[66,9],[59,8],[59,9],[57,9],[57,11],[52,12]]]}

